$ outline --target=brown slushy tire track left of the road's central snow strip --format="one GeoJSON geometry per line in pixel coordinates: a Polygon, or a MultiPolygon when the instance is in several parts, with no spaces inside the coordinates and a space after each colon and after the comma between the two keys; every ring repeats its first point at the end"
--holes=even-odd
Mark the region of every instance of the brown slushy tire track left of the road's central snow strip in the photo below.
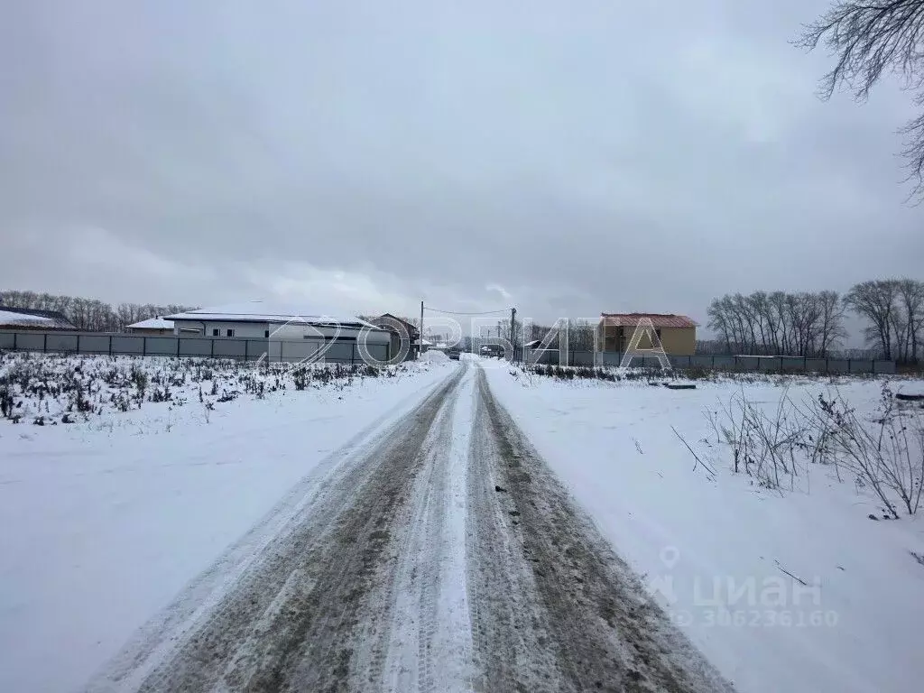
{"type": "Polygon", "coordinates": [[[347,450],[284,529],[227,577],[233,584],[180,619],[177,609],[203,597],[201,580],[194,582],[195,597],[181,596],[183,608],[155,618],[91,690],[347,689],[359,624],[370,614],[390,619],[392,605],[368,595],[384,579],[383,556],[400,529],[395,517],[412,497],[434,421],[462,374],[347,450]]]}

